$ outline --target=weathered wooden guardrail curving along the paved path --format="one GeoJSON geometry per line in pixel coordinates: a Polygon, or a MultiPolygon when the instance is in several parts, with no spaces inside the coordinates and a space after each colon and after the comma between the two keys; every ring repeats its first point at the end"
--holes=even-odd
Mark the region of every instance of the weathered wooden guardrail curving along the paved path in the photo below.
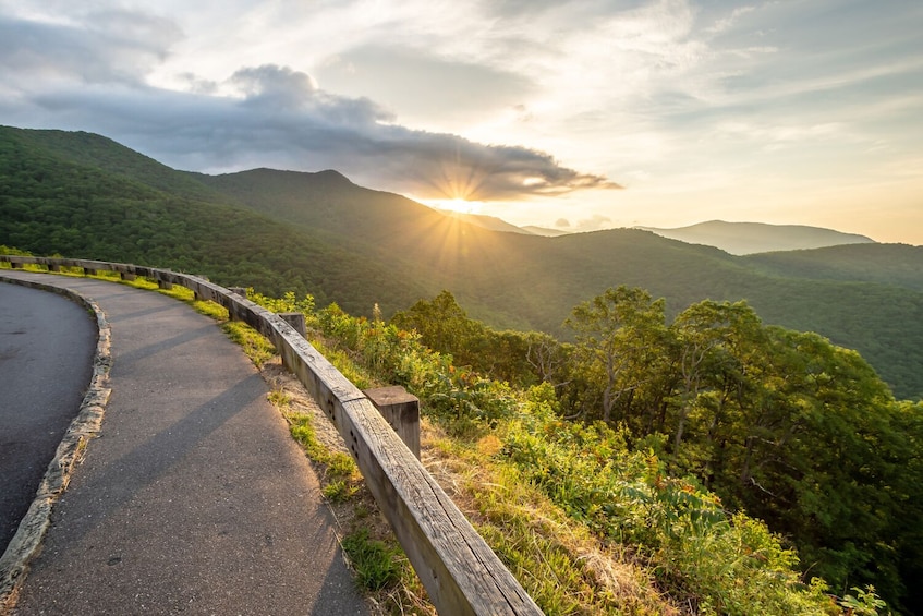
{"type": "Polygon", "coordinates": [[[228,309],[269,340],[345,440],[366,484],[439,614],[525,615],[542,611],[420,463],[368,398],[281,316],[198,276],[138,265],[0,255],[20,268],[81,267],[180,285],[228,309]]]}

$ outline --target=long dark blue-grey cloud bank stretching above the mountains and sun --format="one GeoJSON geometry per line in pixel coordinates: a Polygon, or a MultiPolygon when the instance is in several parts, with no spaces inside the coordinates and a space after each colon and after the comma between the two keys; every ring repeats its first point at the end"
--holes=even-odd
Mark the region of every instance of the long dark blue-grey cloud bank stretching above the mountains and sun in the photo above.
{"type": "Polygon", "coordinates": [[[169,22],[135,17],[100,13],[86,27],[0,21],[0,65],[11,76],[0,90],[3,122],[98,132],[182,169],[335,168],[424,198],[615,186],[542,152],[397,125],[374,101],[327,93],[288,67],[242,68],[222,84],[186,74],[186,93],[145,85],[181,35],[169,22]],[[236,96],[215,94],[222,88],[236,96]]]}

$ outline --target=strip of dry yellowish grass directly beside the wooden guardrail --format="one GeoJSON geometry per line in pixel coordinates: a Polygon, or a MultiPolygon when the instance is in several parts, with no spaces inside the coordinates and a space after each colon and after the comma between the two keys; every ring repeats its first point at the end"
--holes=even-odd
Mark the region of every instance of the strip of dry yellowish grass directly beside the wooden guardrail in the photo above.
{"type": "Polygon", "coordinates": [[[423,422],[424,466],[546,614],[681,614],[621,545],[574,523],[498,455],[487,434],[465,444],[423,422]]]}

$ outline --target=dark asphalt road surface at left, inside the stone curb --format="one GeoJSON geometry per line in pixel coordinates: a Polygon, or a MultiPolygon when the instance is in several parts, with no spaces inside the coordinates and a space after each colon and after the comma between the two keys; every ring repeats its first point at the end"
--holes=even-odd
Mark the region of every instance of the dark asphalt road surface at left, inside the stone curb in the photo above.
{"type": "Polygon", "coordinates": [[[95,348],[83,306],[0,285],[0,554],[77,414],[95,348]]]}

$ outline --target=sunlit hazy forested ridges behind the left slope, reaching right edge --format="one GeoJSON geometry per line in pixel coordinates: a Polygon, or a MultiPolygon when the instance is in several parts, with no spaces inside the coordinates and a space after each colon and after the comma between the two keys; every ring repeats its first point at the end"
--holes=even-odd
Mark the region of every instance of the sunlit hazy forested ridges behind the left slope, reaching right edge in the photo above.
{"type": "Polygon", "coordinates": [[[349,238],[355,251],[451,290],[473,316],[498,327],[567,335],[568,311],[612,285],[664,297],[669,315],[705,299],[746,299],[766,323],[859,350],[899,397],[923,396],[923,326],[915,325],[923,318],[923,249],[855,244],[734,257],[634,229],[491,233],[333,171],[260,169],[205,181],[257,212],[349,238]],[[800,255],[801,269],[772,265],[790,254],[800,255]],[[845,256],[825,265],[829,254],[845,256]],[[804,275],[812,265],[816,275],[804,275]]]}

